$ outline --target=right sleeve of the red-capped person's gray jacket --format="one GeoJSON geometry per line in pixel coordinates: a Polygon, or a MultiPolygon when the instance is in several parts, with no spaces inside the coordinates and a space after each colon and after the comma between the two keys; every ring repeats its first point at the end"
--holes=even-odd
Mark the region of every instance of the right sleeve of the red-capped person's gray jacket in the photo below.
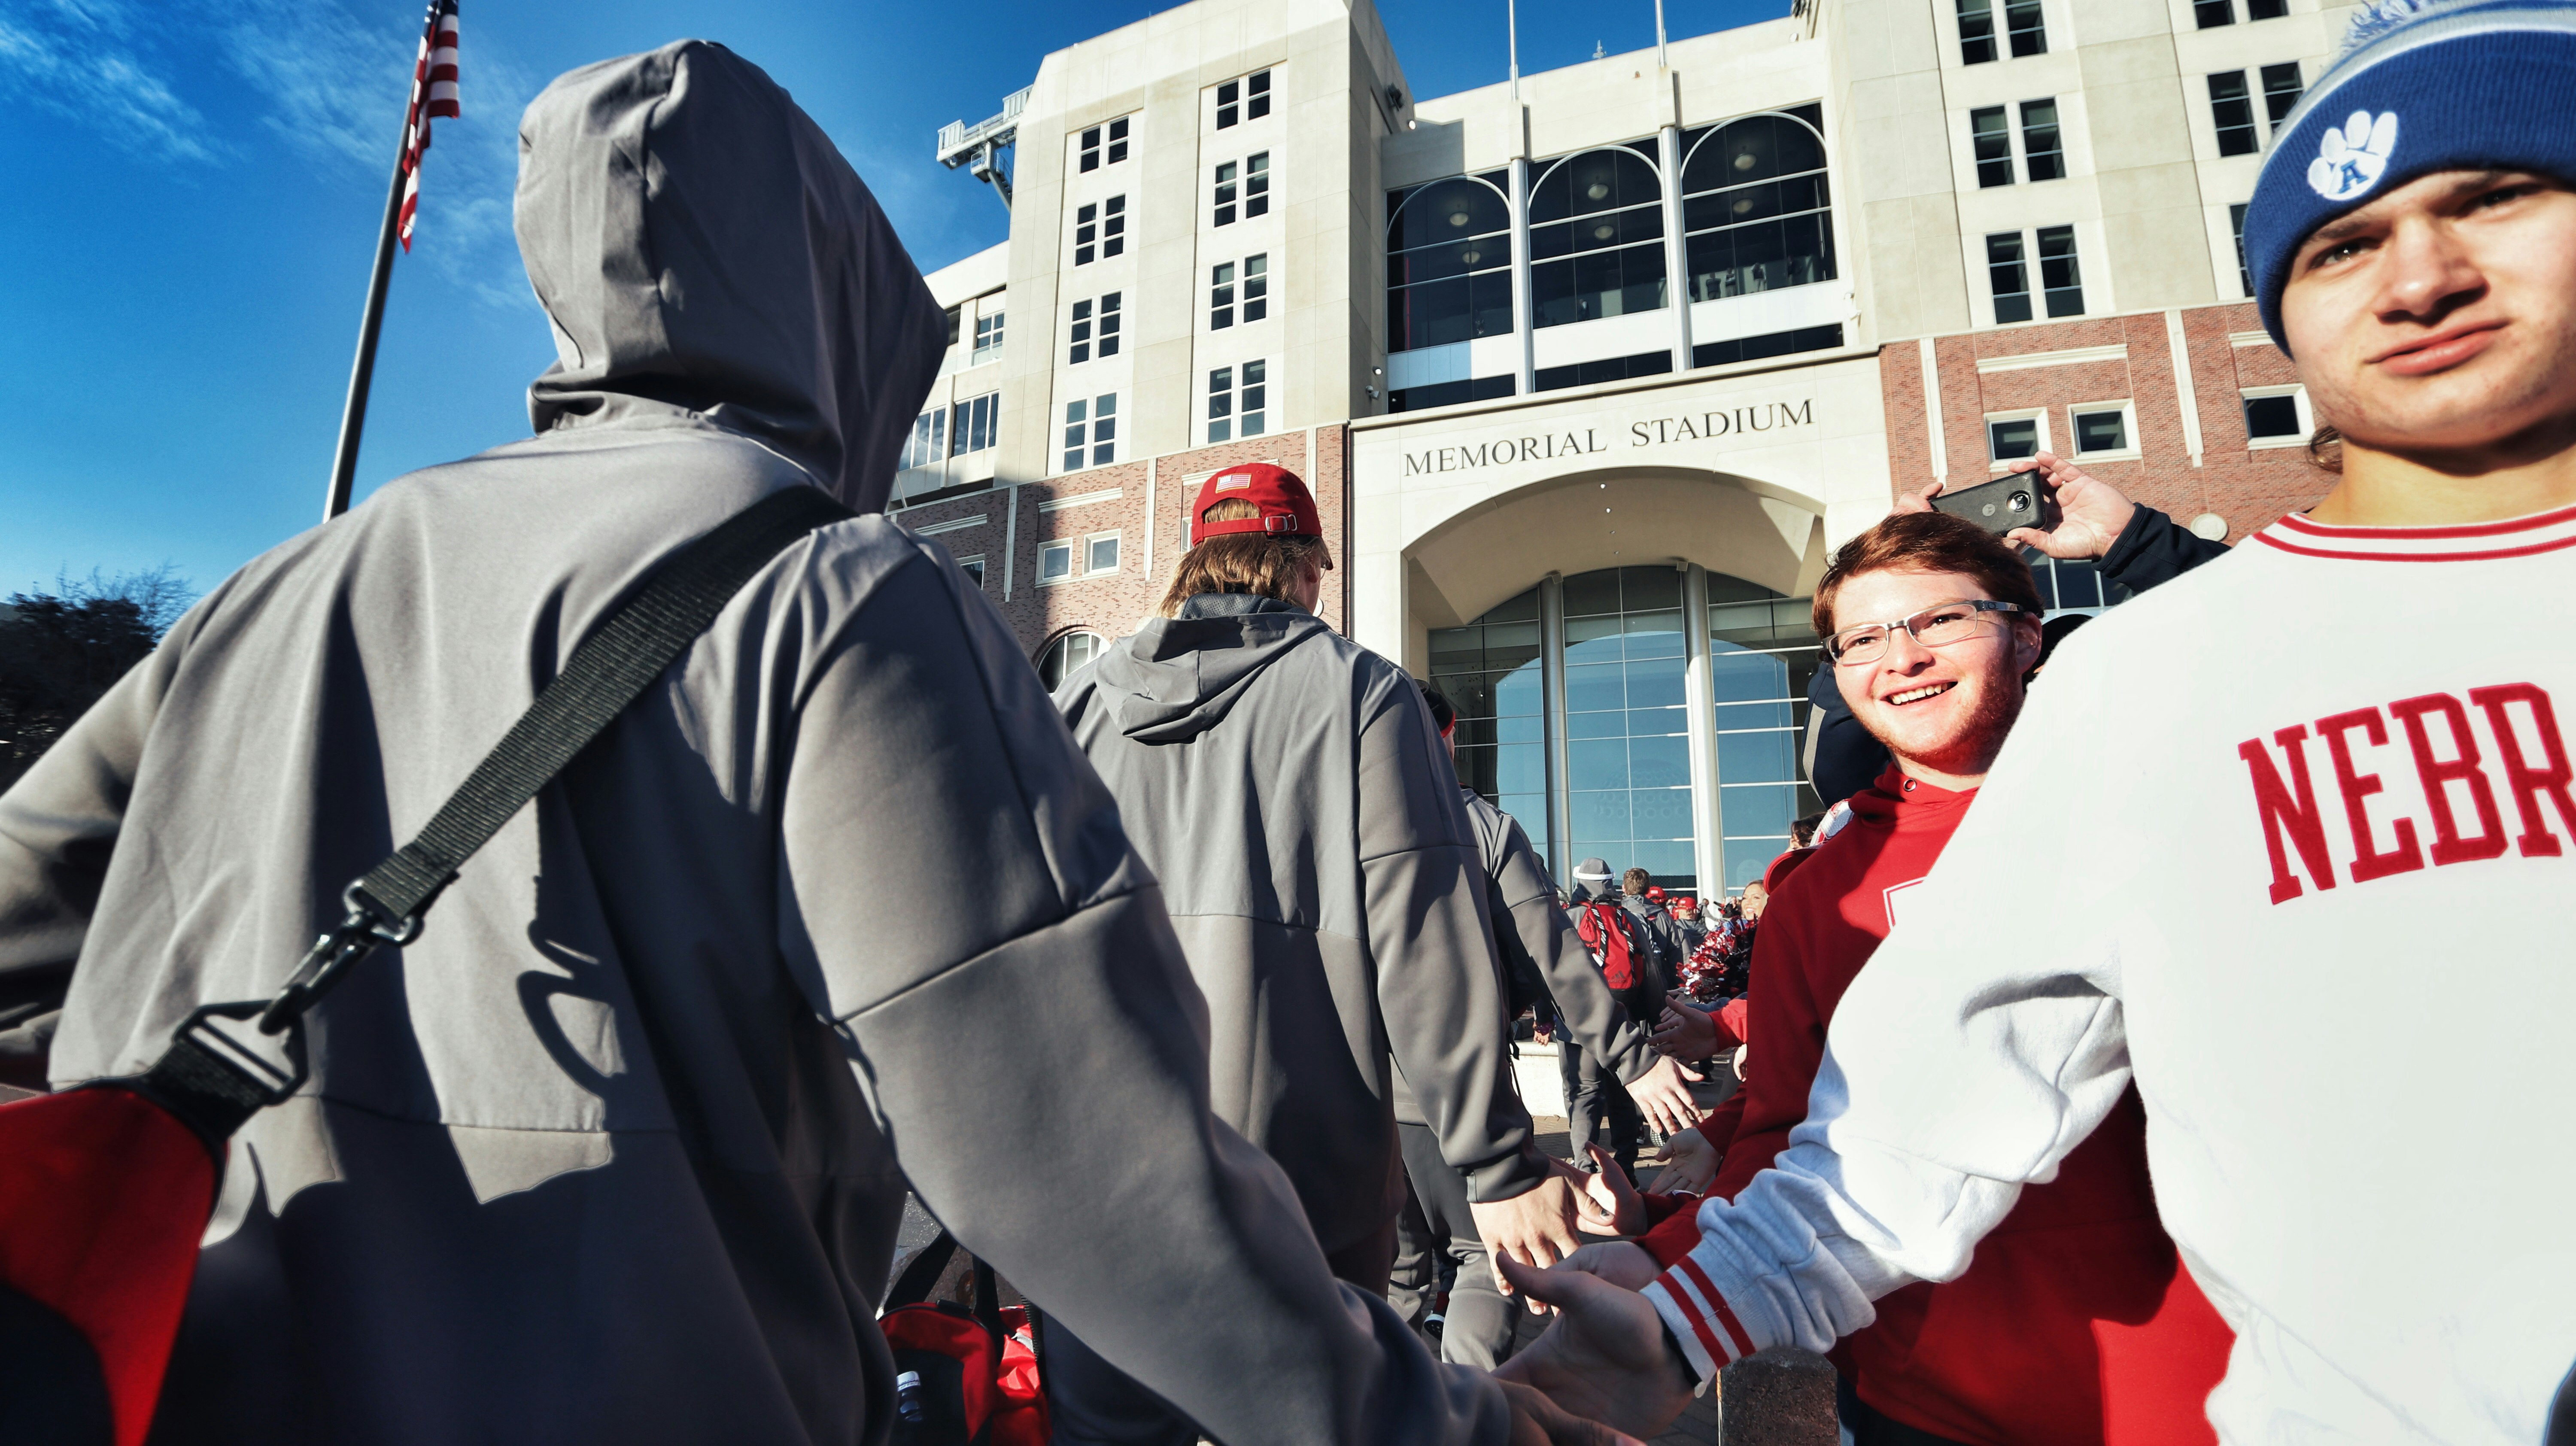
{"type": "Polygon", "coordinates": [[[1360,887],[1386,1044],[1468,1201],[1546,1178],[1512,1083],[1484,856],[1422,691],[1386,668],[1360,701],[1360,887]]]}

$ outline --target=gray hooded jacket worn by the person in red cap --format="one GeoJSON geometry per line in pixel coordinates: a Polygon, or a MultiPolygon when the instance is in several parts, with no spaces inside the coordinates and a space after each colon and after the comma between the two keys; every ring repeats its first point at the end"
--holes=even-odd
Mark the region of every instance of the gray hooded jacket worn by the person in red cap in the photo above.
{"type": "Polygon", "coordinates": [[[1056,706],[1208,995],[1216,1113],[1288,1170],[1327,1253],[1404,1209],[1388,1052],[1471,1201],[1543,1178],[1476,838],[1401,668],[1211,593],[1108,644],[1056,706]]]}

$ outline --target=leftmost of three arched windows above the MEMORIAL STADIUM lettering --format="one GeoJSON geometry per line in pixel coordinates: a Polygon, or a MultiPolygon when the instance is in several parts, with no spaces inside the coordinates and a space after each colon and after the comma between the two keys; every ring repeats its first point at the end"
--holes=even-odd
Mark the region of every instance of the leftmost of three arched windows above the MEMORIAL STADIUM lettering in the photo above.
{"type": "Polygon", "coordinates": [[[1512,330],[1512,204],[1504,173],[1386,196],[1386,351],[1512,330]]]}

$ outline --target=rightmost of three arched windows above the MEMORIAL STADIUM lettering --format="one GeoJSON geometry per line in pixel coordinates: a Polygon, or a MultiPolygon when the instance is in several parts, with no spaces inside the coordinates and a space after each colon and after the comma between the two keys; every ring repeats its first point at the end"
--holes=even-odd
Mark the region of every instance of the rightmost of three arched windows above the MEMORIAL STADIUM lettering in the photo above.
{"type": "MultiPolygon", "coordinates": [[[[1821,111],[1765,113],[1700,131],[1682,162],[1690,299],[1716,302],[1834,278],[1821,111]]],[[[1533,245],[1535,250],[1535,245],[1533,245]]]]}

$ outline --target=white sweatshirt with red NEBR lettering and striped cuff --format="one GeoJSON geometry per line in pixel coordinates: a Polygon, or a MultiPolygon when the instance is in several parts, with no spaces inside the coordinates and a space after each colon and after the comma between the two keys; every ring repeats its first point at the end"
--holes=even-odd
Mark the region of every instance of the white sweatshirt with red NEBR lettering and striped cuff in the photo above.
{"type": "Polygon", "coordinates": [[[1947,1281],[2136,1077],[2223,1441],[2537,1441],[2576,1364],[2576,508],[2282,518],[2074,637],[1649,1286],[1703,1376],[1947,1281]]]}

